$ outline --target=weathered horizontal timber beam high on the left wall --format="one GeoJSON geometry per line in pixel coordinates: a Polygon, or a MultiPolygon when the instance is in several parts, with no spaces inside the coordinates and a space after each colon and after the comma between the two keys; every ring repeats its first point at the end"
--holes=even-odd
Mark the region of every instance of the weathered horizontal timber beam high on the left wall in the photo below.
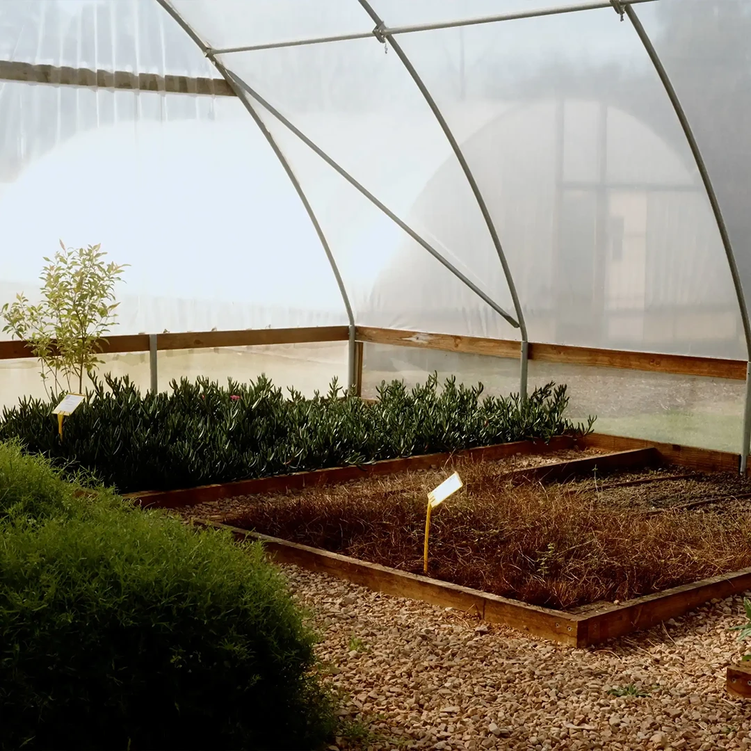
{"type": "Polygon", "coordinates": [[[165,92],[203,96],[235,96],[223,78],[204,78],[129,71],[102,71],[30,62],[0,61],[0,80],[46,83],[52,86],[85,86],[94,89],[165,92]]]}

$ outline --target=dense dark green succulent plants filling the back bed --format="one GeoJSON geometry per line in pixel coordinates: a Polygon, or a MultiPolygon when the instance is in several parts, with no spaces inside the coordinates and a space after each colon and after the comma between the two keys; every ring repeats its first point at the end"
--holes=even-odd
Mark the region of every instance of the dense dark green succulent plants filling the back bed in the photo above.
{"type": "Polygon", "coordinates": [[[0,419],[0,440],[17,438],[56,463],[94,472],[123,493],[170,490],[330,466],[456,451],[523,439],[548,440],[590,430],[564,418],[566,386],[547,384],[527,400],[481,398],[437,375],[411,391],[385,382],[379,400],[345,396],[336,379],[312,399],[285,397],[264,375],[228,388],[182,379],[170,393],[140,394],[127,378],[96,382],[65,420],[62,441],[54,404],[26,398],[0,419]],[[105,387],[105,384],[107,387],[105,387]]]}

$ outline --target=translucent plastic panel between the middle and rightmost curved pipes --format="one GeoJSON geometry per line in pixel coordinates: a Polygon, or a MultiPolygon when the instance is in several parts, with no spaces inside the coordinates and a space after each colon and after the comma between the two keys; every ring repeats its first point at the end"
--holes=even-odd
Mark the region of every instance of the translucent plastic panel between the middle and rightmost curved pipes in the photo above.
{"type": "MultiPolygon", "coordinates": [[[[530,339],[743,357],[706,192],[629,23],[588,11],[405,35],[400,44],[457,133],[473,111],[495,107],[461,144],[530,339]],[[439,49],[453,69],[440,65],[439,49]]],[[[425,210],[451,211],[441,182],[439,170],[425,210]]],[[[451,226],[456,237],[471,231],[460,214],[451,226]]],[[[403,273],[394,269],[394,294],[403,273]]]]}

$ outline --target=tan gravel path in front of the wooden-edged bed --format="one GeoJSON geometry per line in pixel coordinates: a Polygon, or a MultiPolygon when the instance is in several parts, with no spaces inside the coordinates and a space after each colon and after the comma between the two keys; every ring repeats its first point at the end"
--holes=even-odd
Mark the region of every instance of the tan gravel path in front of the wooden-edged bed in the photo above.
{"type": "Polygon", "coordinates": [[[314,614],[318,654],[342,693],[346,729],[332,751],[751,748],[751,703],[725,692],[725,668],[743,654],[728,630],[743,621],[740,597],[573,650],[284,571],[314,614]]]}

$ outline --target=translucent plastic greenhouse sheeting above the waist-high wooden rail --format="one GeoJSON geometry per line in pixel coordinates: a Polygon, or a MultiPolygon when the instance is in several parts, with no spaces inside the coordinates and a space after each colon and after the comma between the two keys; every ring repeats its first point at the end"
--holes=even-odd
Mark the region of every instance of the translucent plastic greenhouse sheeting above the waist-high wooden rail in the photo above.
{"type": "MultiPolygon", "coordinates": [[[[575,5],[372,0],[386,26],[575,5]]],[[[704,155],[751,294],[751,8],[634,5],[704,155]]],[[[172,0],[248,86],[512,318],[498,249],[394,44],[357,0],[172,0]],[[280,42],[355,36],[294,47],[280,42]],[[228,47],[272,47],[222,52],[228,47]]],[[[746,358],[716,217],[613,8],[402,33],[497,230],[529,339],[746,358]]],[[[6,0],[8,61],[220,78],[156,0],[6,0]]],[[[355,322],[520,332],[246,93],[294,170],[355,322]]],[[[117,333],[346,324],[309,216],[237,97],[0,83],[0,303],[59,238],[130,264],[117,333]]]]}

